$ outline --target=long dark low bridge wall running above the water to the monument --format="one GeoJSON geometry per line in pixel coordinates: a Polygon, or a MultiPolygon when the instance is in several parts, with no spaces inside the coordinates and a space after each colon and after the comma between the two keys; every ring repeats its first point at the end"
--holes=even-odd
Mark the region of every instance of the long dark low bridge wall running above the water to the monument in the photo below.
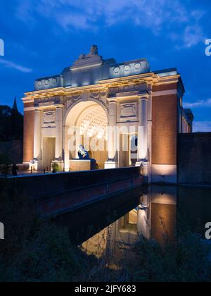
{"type": "MultiPolygon", "coordinates": [[[[34,199],[41,214],[59,214],[143,185],[140,167],[0,178],[34,199]]],[[[146,190],[146,188],[145,188],[146,190]]]]}

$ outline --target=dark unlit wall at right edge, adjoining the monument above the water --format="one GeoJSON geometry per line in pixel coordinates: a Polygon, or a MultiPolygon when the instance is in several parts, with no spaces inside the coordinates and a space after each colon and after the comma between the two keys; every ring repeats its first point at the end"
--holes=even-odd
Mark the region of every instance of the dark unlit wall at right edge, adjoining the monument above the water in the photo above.
{"type": "Polygon", "coordinates": [[[211,132],[179,135],[179,183],[211,185],[211,132]]]}

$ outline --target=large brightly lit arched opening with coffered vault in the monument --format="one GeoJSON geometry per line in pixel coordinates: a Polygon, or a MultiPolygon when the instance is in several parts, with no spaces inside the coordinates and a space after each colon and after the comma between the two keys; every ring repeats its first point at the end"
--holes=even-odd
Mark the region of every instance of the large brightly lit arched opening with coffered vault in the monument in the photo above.
{"type": "Polygon", "coordinates": [[[83,144],[97,168],[104,168],[107,152],[108,114],[95,101],[81,101],[70,109],[65,118],[65,170],[70,159],[78,159],[79,145],[83,144]]]}

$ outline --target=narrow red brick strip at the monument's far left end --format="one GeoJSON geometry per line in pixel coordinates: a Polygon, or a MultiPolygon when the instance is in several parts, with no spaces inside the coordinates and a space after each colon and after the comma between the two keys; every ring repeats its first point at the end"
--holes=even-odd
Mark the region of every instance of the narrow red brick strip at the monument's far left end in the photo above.
{"type": "Polygon", "coordinates": [[[29,162],[34,157],[34,111],[24,112],[23,130],[23,162],[29,162]]]}

